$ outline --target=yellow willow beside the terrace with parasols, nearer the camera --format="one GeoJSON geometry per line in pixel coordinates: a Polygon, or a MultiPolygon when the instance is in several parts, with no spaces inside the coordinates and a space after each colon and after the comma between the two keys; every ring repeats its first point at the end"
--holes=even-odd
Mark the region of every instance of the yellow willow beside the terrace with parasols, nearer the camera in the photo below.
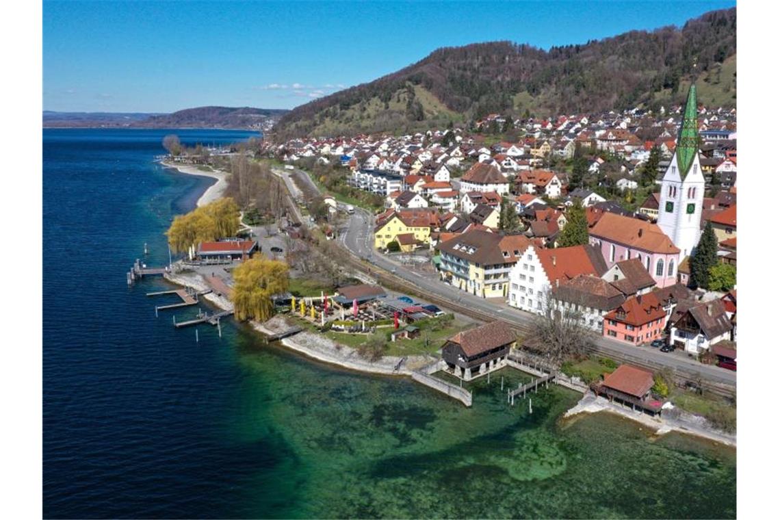
{"type": "Polygon", "coordinates": [[[271,296],[287,292],[289,266],[256,256],[233,270],[232,302],[239,320],[265,321],[274,312],[271,296]]]}

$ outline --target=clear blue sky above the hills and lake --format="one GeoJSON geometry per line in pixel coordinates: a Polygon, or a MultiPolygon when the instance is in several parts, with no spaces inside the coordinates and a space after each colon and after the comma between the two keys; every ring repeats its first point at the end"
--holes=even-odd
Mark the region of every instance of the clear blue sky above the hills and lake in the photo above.
{"type": "Polygon", "coordinates": [[[44,109],[293,108],[439,47],[541,48],[681,26],[735,2],[44,1],[44,109]]]}

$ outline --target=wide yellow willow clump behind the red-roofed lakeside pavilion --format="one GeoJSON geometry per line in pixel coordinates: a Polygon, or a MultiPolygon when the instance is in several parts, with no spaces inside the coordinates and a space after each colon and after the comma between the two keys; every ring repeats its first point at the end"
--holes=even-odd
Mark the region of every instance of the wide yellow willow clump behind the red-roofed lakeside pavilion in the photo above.
{"type": "Polygon", "coordinates": [[[175,252],[186,251],[200,242],[209,242],[236,234],[240,213],[235,200],[225,197],[178,215],[168,228],[168,243],[175,252]]]}

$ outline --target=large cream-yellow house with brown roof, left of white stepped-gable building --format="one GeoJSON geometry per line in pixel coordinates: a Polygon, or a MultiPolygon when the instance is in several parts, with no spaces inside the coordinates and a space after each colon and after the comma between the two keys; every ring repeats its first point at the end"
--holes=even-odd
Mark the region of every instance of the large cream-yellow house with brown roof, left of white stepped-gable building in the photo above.
{"type": "Polygon", "coordinates": [[[523,235],[498,235],[472,229],[442,242],[442,280],[482,298],[509,295],[509,271],[530,246],[523,235]]]}

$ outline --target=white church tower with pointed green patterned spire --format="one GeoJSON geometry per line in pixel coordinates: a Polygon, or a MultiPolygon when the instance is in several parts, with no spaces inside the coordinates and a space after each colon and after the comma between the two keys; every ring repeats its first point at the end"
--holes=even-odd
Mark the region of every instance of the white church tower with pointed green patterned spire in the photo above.
{"type": "Polygon", "coordinates": [[[691,84],[675,154],[661,181],[661,205],[658,207],[658,226],[679,248],[679,262],[690,256],[699,243],[703,204],[704,174],[699,164],[696,85],[691,84]]]}

